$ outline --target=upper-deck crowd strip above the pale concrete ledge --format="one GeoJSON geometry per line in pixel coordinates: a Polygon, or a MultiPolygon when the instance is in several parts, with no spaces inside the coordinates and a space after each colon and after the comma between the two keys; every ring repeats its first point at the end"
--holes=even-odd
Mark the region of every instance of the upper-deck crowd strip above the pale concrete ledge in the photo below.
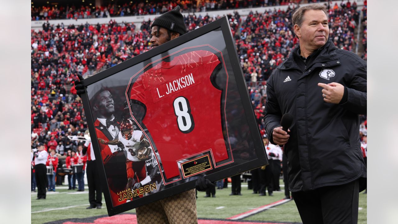
{"type": "MultiPolygon", "coordinates": [[[[52,19],[86,19],[107,18],[116,16],[142,16],[162,14],[172,10],[177,5],[183,12],[208,12],[224,9],[252,8],[260,6],[282,6],[298,3],[301,0],[172,0],[172,1],[119,1],[117,4],[94,6],[92,3],[85,5],[41,5],[31,7],[31,20],[52,19]]],[[[319,2],[319,1],[312,1],[319,2]]]]}

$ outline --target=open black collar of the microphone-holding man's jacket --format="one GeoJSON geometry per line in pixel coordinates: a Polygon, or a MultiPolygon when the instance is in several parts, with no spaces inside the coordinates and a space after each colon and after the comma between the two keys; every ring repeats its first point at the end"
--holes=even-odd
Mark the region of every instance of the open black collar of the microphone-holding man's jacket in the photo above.
{"type": "MultiPolygon", "coordinates": [[[[314,60],[311,60],[310,64],[307,64],[307,67],[310,68],[315,63],[326,63],[328,61],[334,61],[338,59],[338,55],[336,53],[336,45],[331,40],[326,41],[325,45],[319,48],[315,54],[312,54],[312,57],[315,57],[314,60]]],[[[297,45],[295,49],[290,53],[289,57],[284,61],[281,65],[279,65],[278,69],[299,69],[295,60],[300,57],[300,45],[297,45]]],[[[301,59],[300,59],[301,60],[301,59]]]]}

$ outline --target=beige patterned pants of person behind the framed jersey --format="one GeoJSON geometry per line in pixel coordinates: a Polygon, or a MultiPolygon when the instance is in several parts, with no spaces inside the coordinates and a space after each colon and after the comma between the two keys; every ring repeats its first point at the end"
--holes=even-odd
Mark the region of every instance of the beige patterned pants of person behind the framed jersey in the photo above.
{"type": "Polygon", "coordinates": [[[138,224],[197,224],[195,189],[135,209],[138,224]]]}

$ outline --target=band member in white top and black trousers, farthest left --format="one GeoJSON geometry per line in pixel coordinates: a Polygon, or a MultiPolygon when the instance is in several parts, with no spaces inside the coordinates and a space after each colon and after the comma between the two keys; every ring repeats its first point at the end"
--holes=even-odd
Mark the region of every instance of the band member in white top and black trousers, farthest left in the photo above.
{"type": "Polygon", "coordinates": [[[46,199],[46,186],[48,185],[47,180],[47,169],[46,162],[49,153],[45,150],[43,143],[37,143],[37,152],[35,153],[35,178],[37,185],[37,198],[46,199]]]}

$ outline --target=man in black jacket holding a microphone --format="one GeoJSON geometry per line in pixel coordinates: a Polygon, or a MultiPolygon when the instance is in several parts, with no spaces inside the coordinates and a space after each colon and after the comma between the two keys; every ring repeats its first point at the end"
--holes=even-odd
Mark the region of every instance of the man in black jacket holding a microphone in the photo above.
{"type": "Polygon", "coordinates": [[[285,145],[289,189],[302,222],[357,223],[366,167],[359,114],[366,114],[367,68],[356,54],[328,41],[328,14],[312,4],[293,14],[300,45],[267,81],[265,129],[285,145]],[[285,113],[293,123],[285,132],[285,113]]]}

